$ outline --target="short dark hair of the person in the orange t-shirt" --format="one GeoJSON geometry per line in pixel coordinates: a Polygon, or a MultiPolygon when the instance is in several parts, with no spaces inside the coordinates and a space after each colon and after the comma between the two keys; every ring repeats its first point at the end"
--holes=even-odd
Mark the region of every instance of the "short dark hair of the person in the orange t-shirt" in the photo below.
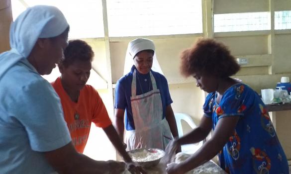
{"type": "Polygon", "coordinates": [[[73,64],[74,61],[93,61],[94,52],[92,47],[83,40],[70,40],[67,48],[64,50],[64,60],[61,64],[68,67],[73,64]]]}

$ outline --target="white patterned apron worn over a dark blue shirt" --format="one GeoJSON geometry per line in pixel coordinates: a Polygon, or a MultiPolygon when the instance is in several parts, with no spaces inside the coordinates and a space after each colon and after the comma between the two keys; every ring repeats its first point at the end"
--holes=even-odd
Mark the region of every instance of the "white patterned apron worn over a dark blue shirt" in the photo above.
{"type": "Polygon", "coordinates": [[[125,132],[127,150],[137,148],[165,149],[172,134],[168,121],[163,116],[163,105],[160,90],[150,72],[153,90],[136,95],[136,70],[131,83],[131,108],[135,130],[125,132]]]}

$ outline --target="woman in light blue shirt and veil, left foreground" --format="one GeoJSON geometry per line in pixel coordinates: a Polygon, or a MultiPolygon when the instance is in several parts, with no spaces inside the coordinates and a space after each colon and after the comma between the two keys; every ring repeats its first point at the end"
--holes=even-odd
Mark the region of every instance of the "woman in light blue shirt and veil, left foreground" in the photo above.
{"type": "Polygon", "coordinates": [[[95,161],[75,150],[60,98],[41,77],[62,59],[68,33],[65,16],[54,6],[28,7],[11,23],[11,50],[0,54],[0,174],[125,170],[123,162],[95,161]]]}

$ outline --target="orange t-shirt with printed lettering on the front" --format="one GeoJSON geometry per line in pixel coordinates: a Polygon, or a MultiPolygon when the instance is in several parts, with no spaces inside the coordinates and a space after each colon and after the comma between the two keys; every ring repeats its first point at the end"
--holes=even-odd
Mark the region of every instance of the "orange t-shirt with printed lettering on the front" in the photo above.
{"type": "Polygon", "coordinates": [[[61,78],[51,83],[61,98],[65,120],[72,143],[79,153],[83,153],[91,128],[91,122],[105,128],[111,123],[104,103],[94,87],[86,85],[79,95],[78,102],[71,100],[62,86],[61,78]]]}

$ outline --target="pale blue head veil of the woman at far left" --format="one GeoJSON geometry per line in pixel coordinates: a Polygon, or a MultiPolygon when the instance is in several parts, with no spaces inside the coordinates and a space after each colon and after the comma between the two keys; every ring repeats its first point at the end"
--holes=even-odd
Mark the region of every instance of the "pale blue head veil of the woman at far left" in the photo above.
{"type": "Polygon", "coordinates": [[[38,38],[58,36],[68,26],[65,16],[57,7],[36,5],[27,8],[11,23],[11,50],[0,54],[0,79],[19,60],[27,59],[38,38]]]}

